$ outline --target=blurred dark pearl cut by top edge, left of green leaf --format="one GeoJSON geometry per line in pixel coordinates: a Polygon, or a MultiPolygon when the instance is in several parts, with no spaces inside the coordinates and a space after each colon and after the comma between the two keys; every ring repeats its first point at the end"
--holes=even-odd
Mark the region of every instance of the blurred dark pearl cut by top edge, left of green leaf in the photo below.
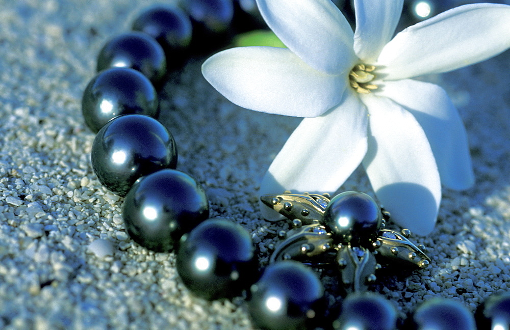
{"type": "Polygon", "coordinates": [[[195,25],[212,33],[225,32],[234,16],[232,0],[188,0],[185,6],[195,25]]]}

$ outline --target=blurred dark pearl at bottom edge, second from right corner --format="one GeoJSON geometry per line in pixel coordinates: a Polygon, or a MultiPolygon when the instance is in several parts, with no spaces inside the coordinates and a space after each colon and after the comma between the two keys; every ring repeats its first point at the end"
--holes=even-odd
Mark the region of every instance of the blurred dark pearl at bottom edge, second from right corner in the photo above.
{"type": "Polygon", "coordinates": [[[413,315],[416,330],[476,330],[473,314],[461,303],[433,298],[421,304],[413,315]]]}

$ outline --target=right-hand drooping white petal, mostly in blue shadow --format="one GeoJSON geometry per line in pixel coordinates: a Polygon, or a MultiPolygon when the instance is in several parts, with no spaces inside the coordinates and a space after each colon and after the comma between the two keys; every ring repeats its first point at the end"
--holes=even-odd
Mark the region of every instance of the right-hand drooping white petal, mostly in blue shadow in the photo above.
{"type": "Polygon", "coordinates": [[[444,89],[428,82],[405,79],[386,81],[380,95],[402,105],[420,123],[444,185],[452,189],[467,189],[473,185],[466,129],[444,89]]]}

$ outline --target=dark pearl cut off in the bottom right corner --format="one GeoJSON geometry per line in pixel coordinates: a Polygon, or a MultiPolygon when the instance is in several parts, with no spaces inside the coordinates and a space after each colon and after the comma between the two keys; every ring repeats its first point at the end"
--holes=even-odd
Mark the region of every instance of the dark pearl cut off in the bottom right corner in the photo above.
{"type": "Polygon", "coordinates": [[[478,307],[475,318],[478,329],[510,329],[510,292],[491,295],[478,307]]]}

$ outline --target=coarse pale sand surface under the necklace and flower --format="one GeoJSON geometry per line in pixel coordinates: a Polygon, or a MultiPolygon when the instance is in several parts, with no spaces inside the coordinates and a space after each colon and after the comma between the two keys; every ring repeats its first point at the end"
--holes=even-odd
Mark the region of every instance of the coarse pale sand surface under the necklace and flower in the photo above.
{"type": "MultiPolygon", "coordinates": [[[[0,2],[0,328],[249,329],[242,298],[194,297],[173,253],[153,253],[127,236],[122,199],[97,181],[94,134],[81,115],[82,92],[104,42],[129,30],[152,1],[0,2]]],[[[178,169],[205,187],[211,217],[250,231],[261,266],[286,223],[261,219],[258,184],[299,123],[233,105],[200,74],[204,58],[171,75],[161,121],[179,148],[178,169]]],[[[443,86],[469,135],[476,185],[444,190],[427,237],[429,268],[379,277],[402,313],[431,297],[471,311],[510,291],[510,53],[425,79],[443,86]]],[[[327,143],[334,143],[328,141],[327,143]]],[[[341,190],[370,191],[358,170],[341,190]]],[[[419,233],[417,233],[419,234],[419,233]]],[[[336,279],[323,272],[330,304],[336,279]]]]}

